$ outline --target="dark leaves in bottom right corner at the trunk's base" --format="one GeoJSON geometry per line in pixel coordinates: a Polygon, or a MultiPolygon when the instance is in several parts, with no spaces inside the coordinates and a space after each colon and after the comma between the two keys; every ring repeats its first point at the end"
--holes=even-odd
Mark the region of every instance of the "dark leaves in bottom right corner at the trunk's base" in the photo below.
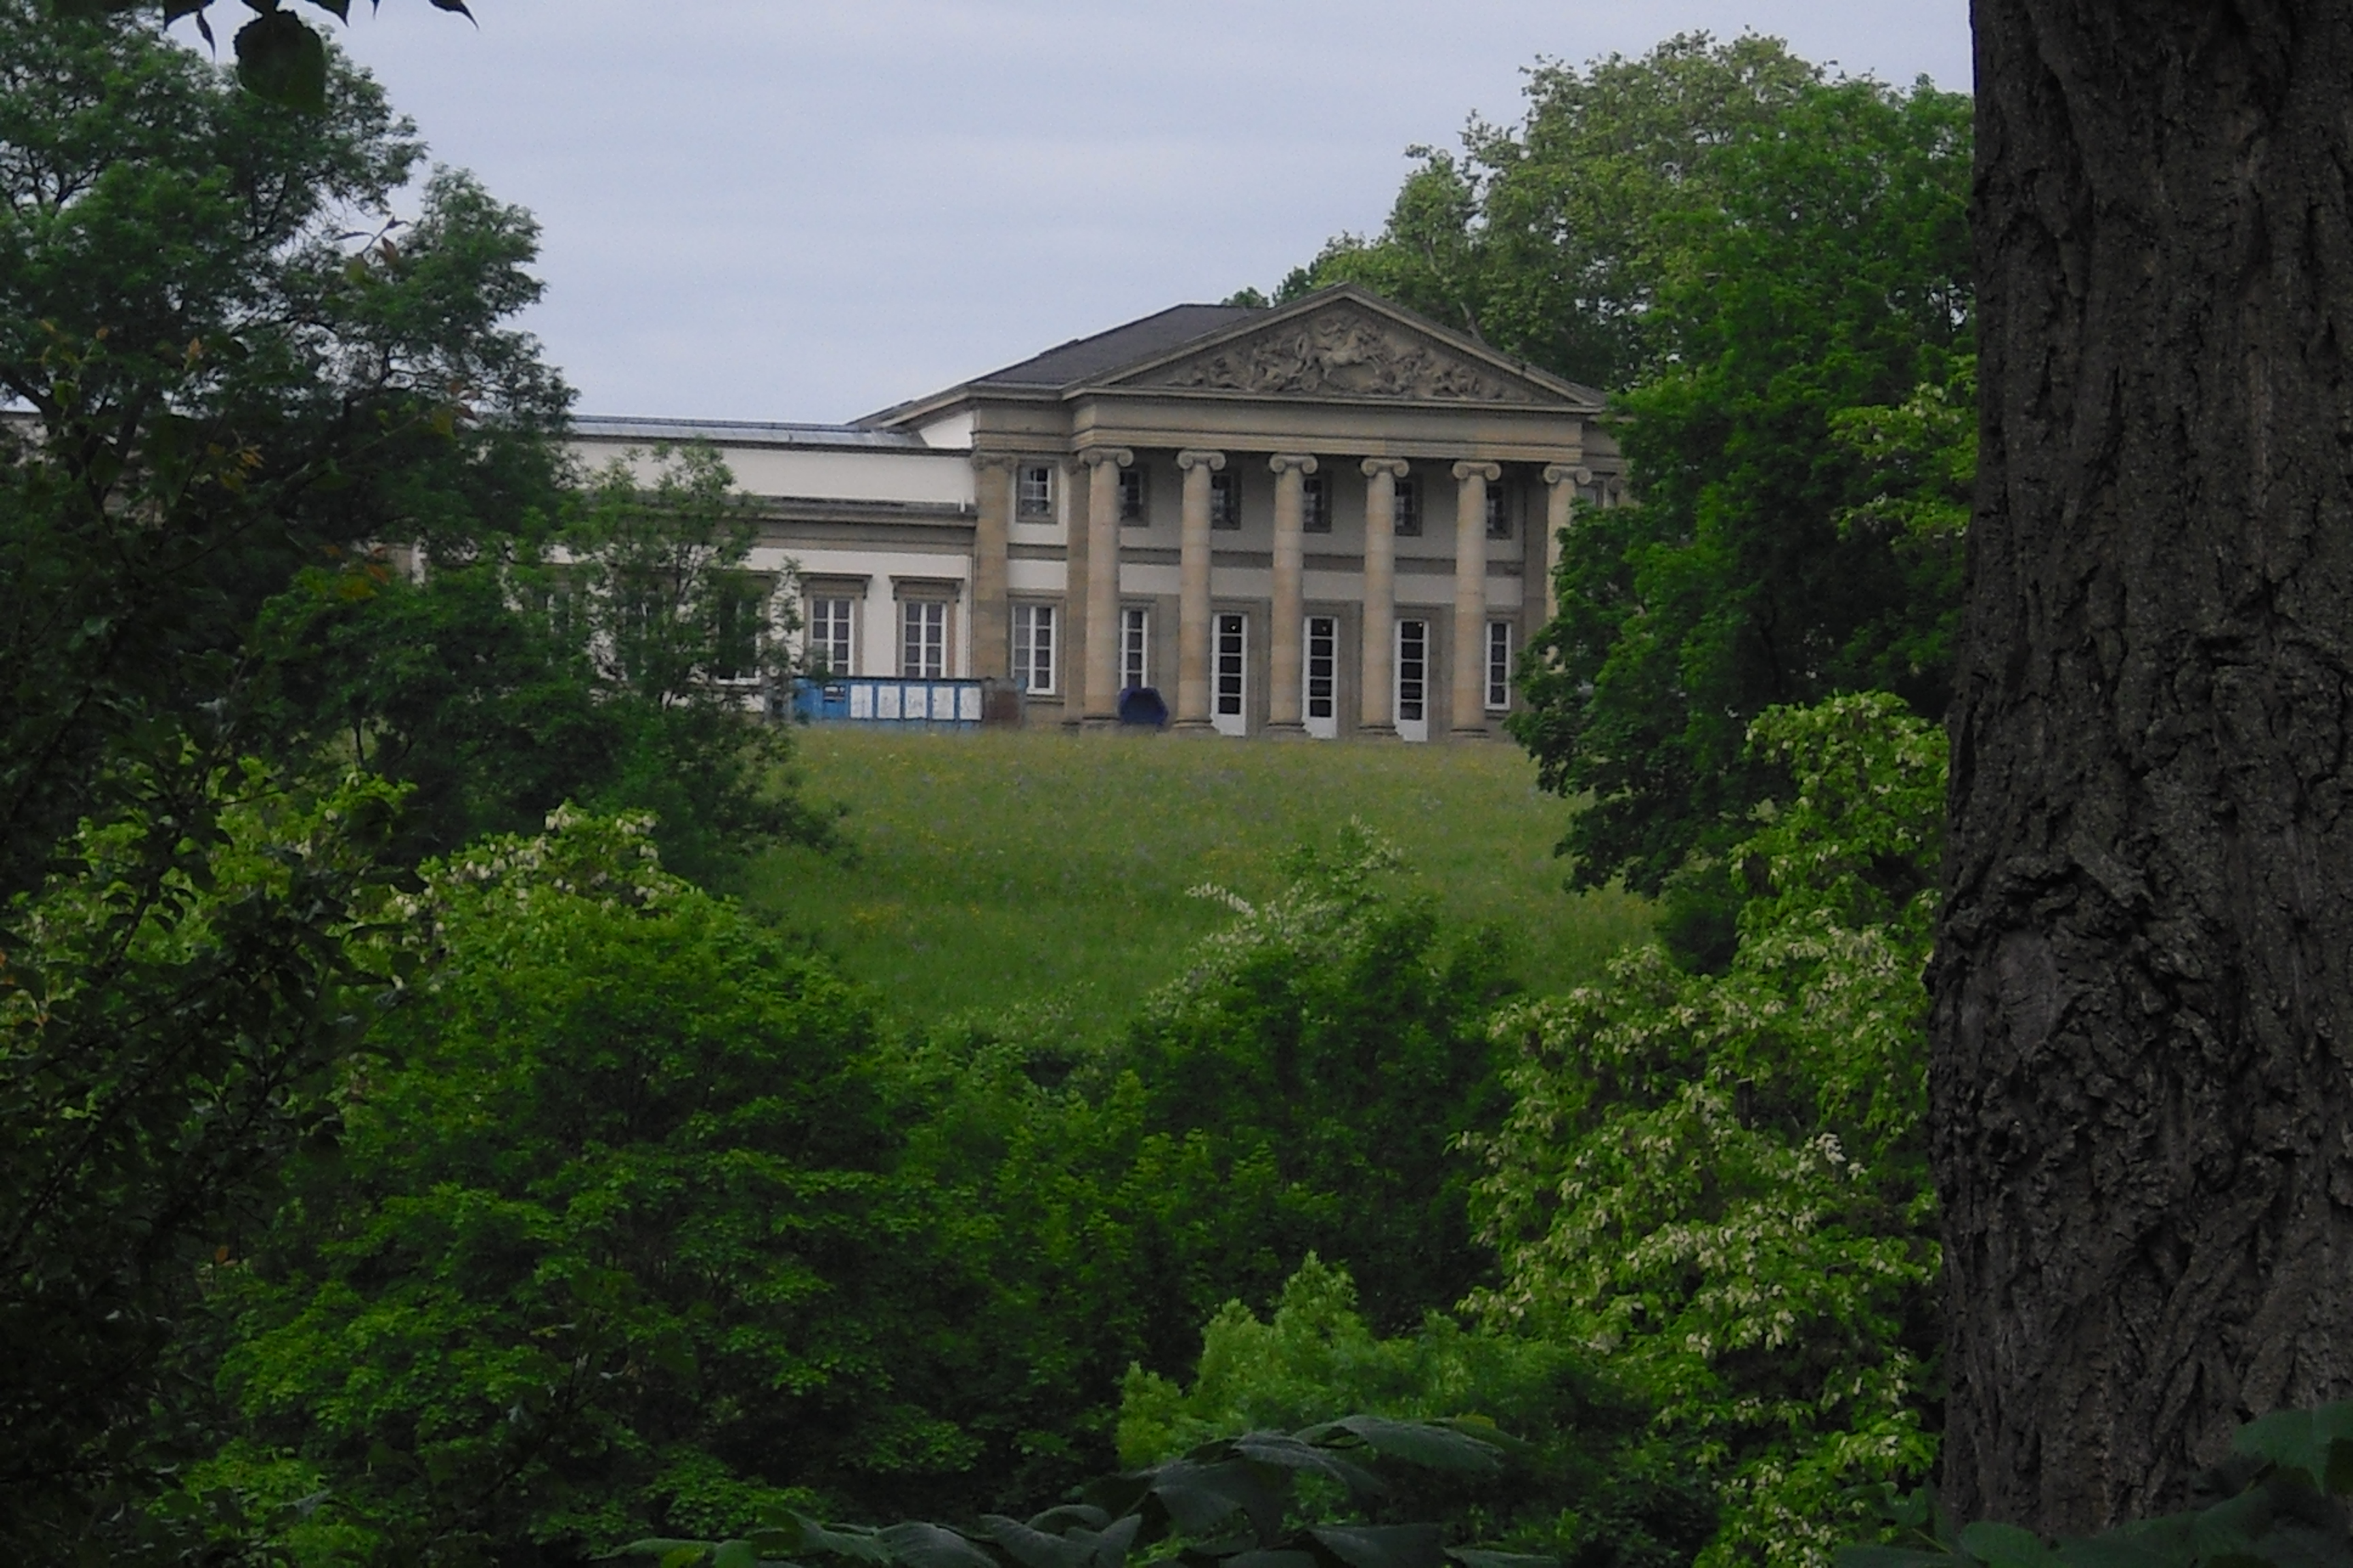
{"type": "Polygon", "coordinates": [[[2198,1507],[2094,1537],[1953,1528],[1934,1495],[1885,1495],[1904,1544],[1847,1547],[1838,1568],[2353,1568],[2353,1403],[2273,1410],[2191,1486],[2198,1507]]]}

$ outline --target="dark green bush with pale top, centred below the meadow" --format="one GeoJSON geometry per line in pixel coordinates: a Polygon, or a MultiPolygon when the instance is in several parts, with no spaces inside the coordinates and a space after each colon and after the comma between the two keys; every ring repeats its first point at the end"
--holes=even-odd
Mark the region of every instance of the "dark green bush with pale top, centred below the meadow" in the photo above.
{"type": "MultiPolygon", "coordinates": [[[[1118,1056],[1151,1128],[1205,1133],[1219,1166],[1264,1175],[1257,1246],[1285,1272],[1311,1251],[1341,1262],[1381,1326],[1480,1276],[1452,1140],[1501,1112],[1482,1030],[1504,992],[1499,936],[1442,940],[1426,896],[1386,893],[1400,865],[1348,823],[1334,853],[1294,851],[1264,903],[1200,889],[1240,919],[1195,947],[1118,1056]]],[[[1221,1274],[1224,1291],[1280,1284],[1254,1272],[1221,1274]]]]}

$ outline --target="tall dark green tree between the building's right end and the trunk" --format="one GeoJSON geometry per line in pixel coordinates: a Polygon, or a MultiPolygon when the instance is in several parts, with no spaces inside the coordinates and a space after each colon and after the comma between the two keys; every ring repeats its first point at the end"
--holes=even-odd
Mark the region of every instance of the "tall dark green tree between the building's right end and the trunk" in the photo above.
{"type": "Polygon", "coordinates": [[[1546,788],[1591,797],[1579,884],[1659,891],[1722,853],[1777,785],[1744,755],[1767,708],[1948,689],[1958,536],[1878,520],[1889,484],[1955,496],[1972,465],[1974,425],[1925,418],[1969,378],[1969,101],[1814,85],[1706,162],[1645,320],[1661,362],[1624,395],[1640,503],[1569,529],[1513,717],[1546,788]]]}

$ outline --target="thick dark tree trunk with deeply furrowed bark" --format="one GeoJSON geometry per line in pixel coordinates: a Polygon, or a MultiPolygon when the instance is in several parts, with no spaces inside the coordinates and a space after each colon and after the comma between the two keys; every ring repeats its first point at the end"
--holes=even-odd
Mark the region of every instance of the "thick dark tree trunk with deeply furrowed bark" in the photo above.
{"type": "Polygon", "coordinates": [[[2353,0],[1977,0],[1946,1493],[2353,1392],[2353,0]]]}

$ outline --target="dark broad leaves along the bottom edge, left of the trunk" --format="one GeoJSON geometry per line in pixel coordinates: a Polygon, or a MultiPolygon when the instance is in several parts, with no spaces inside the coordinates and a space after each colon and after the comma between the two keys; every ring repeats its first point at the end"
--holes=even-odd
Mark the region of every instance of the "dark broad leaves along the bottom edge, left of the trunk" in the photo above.
{"type": "MultiPolygon", "coordinates": [[[[776,1512],[767,1528],[729,1540],[640,1540],[626,1556],[664,1568],[755,1568],[762,1561],[838,1556],[885,1568],[1122,1568],[1148,1563],[1294,1563],[1297,1568],[1551,1568],[1551,1559],[1449,1544],[1433,1523],[1384,1514],[1395,1465],[1492,1476],[1504,1455],[1492,1432],[1464,1422],[1393,1422],[1344,1415],[1301,1432],[1247,1432],[1191,1453],[1104,1476],[1031,1521],[986,1516],[972,1530],[932,1523],[821,1526],[776,1512]],[[1341,1521],[1294,1523],[1299,1495],[1339,1493],[1341,1521]]],[[[1393,1505],[1391,1505],[1393,1507],[1393,1505]]]]}

